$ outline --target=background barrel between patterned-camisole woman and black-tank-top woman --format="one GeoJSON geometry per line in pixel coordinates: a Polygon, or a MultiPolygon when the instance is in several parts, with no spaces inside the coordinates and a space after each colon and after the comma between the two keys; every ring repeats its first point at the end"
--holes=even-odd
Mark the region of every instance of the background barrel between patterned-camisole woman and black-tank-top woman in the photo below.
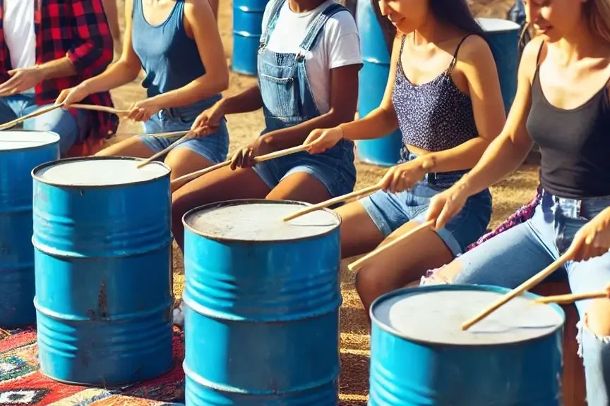
{"type": "Polygon", "coordinates": [[[508,113],[517,92],[521,27],[513,21],[500,18],[477,18],[477,21],[486,32],[491,53],[494,54],[504,108],[508,113]]]}

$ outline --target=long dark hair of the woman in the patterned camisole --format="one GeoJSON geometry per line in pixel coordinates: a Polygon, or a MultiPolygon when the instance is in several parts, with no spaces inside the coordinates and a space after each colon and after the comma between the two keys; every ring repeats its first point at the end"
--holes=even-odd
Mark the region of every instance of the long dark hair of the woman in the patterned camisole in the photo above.
{"type": "MultiPolygon", "coordinates": [[[[394,37],[396,37],[396,27],[390,23],[388,18],[381,15],[378,0],[371,0],[371,2],[377,20],[383,30],[388,50],[391,52],[394,37]]],[[[483,38],[486,37],[483,28],[477,23],[477,20],[474,20],[466,0],[430,0],[430,8],[434,16],[441,23],[453,25],[469,34],[476,34],[483,38]]]]}

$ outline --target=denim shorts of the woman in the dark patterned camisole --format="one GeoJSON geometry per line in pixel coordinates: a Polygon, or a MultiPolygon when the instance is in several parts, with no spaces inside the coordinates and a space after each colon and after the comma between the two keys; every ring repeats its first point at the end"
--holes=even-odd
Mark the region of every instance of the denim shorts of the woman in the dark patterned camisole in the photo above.
{"type": "MultiPolygon", "coordinates": [[[[448,189],[465,173],[467,171],[428,173],[410,190],[400,193],[379,190],[359,202],[383,236],[388,237],[409,221],[424,223],[430,199],[448,189]]],[[[491,193],[486,189],[469,197],[462,211],[445,228],[438,230],[438,236],[457,257],[485,233],[490,220],[491,193]]]]}

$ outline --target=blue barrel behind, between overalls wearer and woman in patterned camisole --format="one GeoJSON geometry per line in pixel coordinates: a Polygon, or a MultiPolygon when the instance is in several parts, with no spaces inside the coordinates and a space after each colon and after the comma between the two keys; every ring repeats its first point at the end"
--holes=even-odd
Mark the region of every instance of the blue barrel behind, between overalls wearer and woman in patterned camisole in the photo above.
{"type": "MultiPolygon", "coordinates": [[[[363,61],[358,80],[358,113],[364,117],[381,104],[390,73],[390,53],[371,0],[358,0],[356,20],[363,61]]],[[[376,140],[357,141],[356,144],[361,161],[379,166],[393,166],[400,161],[400,130],[376,140]]]]}

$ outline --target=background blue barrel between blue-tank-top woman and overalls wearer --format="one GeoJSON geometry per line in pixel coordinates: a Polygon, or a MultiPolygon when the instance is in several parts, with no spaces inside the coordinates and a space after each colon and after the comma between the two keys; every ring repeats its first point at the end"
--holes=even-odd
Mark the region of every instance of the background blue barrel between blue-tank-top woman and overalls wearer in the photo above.
{"type": "Polygon", "coordinates": [[[231,68],[243,75],[256,75],[263,13],[267,0],[234,0],[233,58],[231,68]]]}

